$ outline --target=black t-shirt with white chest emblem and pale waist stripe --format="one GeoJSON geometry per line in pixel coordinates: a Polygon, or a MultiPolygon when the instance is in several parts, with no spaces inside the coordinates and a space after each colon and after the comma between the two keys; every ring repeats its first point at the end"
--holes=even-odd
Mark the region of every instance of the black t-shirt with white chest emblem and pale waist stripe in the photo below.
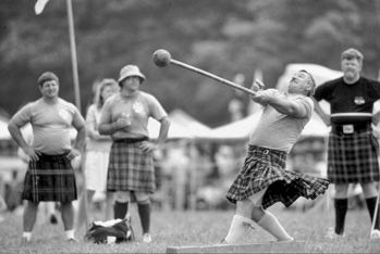
{"type": "MultiPolygon", "coordinates": [[[[373,103],[380,99],[380,82],[360,77],[355,84],[347,85],[343,77],[327,81],[317,87],[314,98],[317,101],[326,100],[330,103],[331,114],[338,113],[369,113],[372,114],[373,103]]],[[[361,122],[355,114],[350,119],[345,116],[344,122],[361,122]]],[[[338,118],[336,118],[338,119],[338,118]]],[[[335,120],[336,120],[335,119],[335,120]]],[[[363,118],[364,119],[364,118],[363,118]]],[[[339,119],[338,119],[339,120],[339,119]]],[[[369,120],[370,117],[366,120],[369,120]]],[[[331,122],[333,124],[334,119],[331,122]]],[[[339,124],[339,123],[336,123],[339,124]]]]}

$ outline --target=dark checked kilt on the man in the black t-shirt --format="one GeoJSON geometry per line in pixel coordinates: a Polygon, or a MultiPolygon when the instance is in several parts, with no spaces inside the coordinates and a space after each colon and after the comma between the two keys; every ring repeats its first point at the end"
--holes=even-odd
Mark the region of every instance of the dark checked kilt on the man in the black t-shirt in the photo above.
{"type": "Polygon", "coordinates": [[[370,129],[329,135],[328,179],[332,183],[379,181],[379,143],[370,129]]]}

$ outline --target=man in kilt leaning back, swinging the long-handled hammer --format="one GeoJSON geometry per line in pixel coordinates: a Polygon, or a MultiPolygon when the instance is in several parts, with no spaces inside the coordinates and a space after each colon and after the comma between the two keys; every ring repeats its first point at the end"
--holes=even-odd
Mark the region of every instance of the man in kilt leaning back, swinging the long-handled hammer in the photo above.
{"type": "MultiPolygon", "coordinates": [[[[262,86],[261,86],[262,87],[262,86]]],[[[316,84],[306,71],[297,72],[287,92],[261,90],[255,81],[252,100],[265,109],[248,143],[244,166],[230,187],[226,199],[236,204],[230,230],[220,244],[235,244],[246,230],[258,225],[278,241],[293,241],[279,220],[267,211],[275,202],[290,206],[299,196],[316,199],[329,181],[285,169],[286,155],[309,122],[316,84]]]]}

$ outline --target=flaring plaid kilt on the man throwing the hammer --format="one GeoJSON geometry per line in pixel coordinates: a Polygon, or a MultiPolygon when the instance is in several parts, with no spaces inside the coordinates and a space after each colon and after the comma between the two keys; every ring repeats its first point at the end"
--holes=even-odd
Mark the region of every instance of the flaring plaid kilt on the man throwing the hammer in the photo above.
{"type": "Polygon", "coordinates": [[[236,203],[268,188],[261,204],[266,209],[277,202],[289,207],[299,196],[314,200],[328,189],[328,180],[285,170],[285,152],[249,145],[243,168],[225,198],[236,203]]]}

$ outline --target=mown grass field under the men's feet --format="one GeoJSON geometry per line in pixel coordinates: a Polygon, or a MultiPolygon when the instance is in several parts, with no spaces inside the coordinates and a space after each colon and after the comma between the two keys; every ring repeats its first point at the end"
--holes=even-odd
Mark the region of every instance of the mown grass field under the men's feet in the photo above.
{"type": "MultiPolygon", "coordinates": [[[[168,246],[209,245],[225,237],[232,216],[231,211],[161,212],[151,217],[152,242],[143,243],[137,207],[132,206],[136,241],[123,244],[85,243],[84,228],[76,232],[78,243],[64,240],[63,225],[50,225],[40,215],[33,231],[32,242],[21,244],[22,216],[5,213],[0,224],[0,253],[166,253],[168,246]]],[[[348,211],[345,238],[327,240],[328,212],[323,208],[311,213],[285,209],[277,204],[269,208],[289,233],[306,242],[306,253],[380,253],[380,240],[369,240],[370,221],[367,209],[348,211]]],[[[331,214],[332,216],[332,214],[331,214]]],[[[332,216],[333,217],[333,216],[332,216]]],[[[250,230],[241,243],[257,243],[274,239],[260,228],[250,230]]]]}

